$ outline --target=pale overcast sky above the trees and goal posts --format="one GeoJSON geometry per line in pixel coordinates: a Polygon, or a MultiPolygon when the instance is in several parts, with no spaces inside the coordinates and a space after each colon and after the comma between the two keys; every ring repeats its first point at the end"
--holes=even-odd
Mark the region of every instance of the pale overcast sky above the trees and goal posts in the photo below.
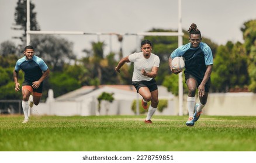
{"type": "MultiPolygon", "coordinates": [[[[18,0],[0,0],[0,43],[22,32],[12,30],[18,0]]],[[[84,31],[87,33],[140,33],[153,28],[178,29],[178,0],[30,0],[36,8],[41,30],[84,31]]],[[[217,44],[227,41],[243,42],[240,28],[244,22],[256,19],[255,0],[182,0],[182,29],[196,23],[204,37],[217,44]]],[[[61,35],[74,42],[74,52],[84,56],[82,49],[90,49],[97,36],[61,35]]],[[[100,36],[105,51],[117,52],[120,44],[116,36],[100,36]],[[111,41],[110,41],[111,40],[111,41]],[[111,42],[111,44],[110,44],[111,42]],[[111,45],[111,46],[110,46],[111,45]]],[[[123,38],[124,55],[136,49],[140,37],[123,38]]],[[[154,42],[153,42],[154,44],[154,42]]],[[[171,52],[170,52],[171,53],[171,52]]]]}

